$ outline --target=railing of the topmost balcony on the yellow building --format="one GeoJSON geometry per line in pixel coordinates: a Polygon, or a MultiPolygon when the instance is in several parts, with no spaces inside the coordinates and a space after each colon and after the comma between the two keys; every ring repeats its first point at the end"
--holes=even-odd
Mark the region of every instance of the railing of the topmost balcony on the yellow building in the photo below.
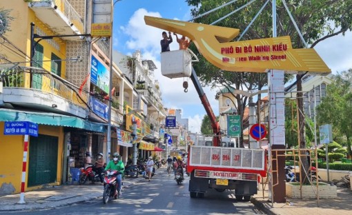
{"type": "Polygon", "coordinates": [[[70,21],[70,25],[75,25],[79,32],[84,33],[84,21],[78,12],[67,0],[32,0],[32,2],[52,2],[70,21]]]}

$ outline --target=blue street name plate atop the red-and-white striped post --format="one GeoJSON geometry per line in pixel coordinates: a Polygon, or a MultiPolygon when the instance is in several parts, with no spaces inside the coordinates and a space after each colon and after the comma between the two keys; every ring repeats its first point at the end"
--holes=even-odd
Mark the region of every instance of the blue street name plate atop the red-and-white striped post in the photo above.
{"type": "Polygon", "coordinates": [[[38,136],[38,124],[31,122],[5,122],[4,135],[24,135],[38,136]]]}

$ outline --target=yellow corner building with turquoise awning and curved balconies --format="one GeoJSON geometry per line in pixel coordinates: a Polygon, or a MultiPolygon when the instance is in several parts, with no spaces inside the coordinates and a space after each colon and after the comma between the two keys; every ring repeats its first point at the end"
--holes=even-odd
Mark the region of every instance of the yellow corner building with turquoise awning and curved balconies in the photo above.
{"type": "Polygon", "coordinates": [[[84,152],[92,152],[92,147],[101,143],[99,136],[104,134],[106,121],[86,120],[87,86],[79,92],[77,85],[87,76],[90,53],[82,45],[84,37],[78,35],[86,31],[84,3],[85,0],[0,2],[0,8],[11,10],[14,18],[0,45],[0,73],[4,77],[0,88],[0,194],[20,192],[23,161],[23,135],[4,135],[4,122],[30,121],[39,125],[39,135],[29,139],[26,191],[67,181],[67,157],[77,159],[70,166],[79,167],[84,152]],[[73,65],[77,43],[85,56],[80,64],[73,65]],[[84,63],[84,69],[79,69],[84,63]]]}

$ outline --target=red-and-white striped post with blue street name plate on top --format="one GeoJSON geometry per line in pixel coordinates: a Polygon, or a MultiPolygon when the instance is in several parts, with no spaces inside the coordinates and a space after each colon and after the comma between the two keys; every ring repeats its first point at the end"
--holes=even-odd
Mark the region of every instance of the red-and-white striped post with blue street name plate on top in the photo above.
{"type": "Polygon", "coordinates": [[[19,204],[25,204],[24,187],[26,185],[26,168],[27,168],[27,151],[28,151],[28,136],[38,136],[38,124],[27,121],[10,121],[5,123],[3,128],[4,135],[24,135],[23,141],[23,160],[22,160],[22,175],[21,175],[21,194],[19,194],[19,204]]]}

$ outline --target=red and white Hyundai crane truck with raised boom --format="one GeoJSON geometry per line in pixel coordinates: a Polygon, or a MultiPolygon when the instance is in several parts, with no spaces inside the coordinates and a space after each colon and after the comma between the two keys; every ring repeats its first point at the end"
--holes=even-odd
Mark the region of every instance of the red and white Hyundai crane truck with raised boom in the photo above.
{"type": "Polygon", "coordinates": [[[193,67],[190,79],[213,128],[212,146],[192,145],[189,148],[190,197],[202,198],[209,189],[217,192],[235,190],[237,201],[250,201],[251,196],[257,194],[258,176],[266,176],[265,152],[262,149],[222,147],[219,123],[193,67]]]}

